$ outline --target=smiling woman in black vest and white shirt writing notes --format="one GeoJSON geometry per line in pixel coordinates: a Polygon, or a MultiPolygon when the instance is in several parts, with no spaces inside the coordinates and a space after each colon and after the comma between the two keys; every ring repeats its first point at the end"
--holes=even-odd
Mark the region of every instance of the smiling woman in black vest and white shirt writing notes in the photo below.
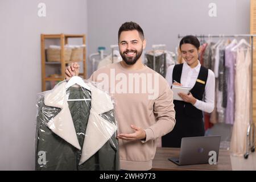
{"type": "Polygon", "coordinates": [[[192,35],[180,40],[183,64],[172,65],[166,80],[172,85],[191,88],[189,94],[179,93],[183,101],[174,100],[176,125],[162,137],[162,147],[180,147],[183,137],[204,136],[203,111],[214,109],[214,73],[199,62],[200,42],[192,35]]]}

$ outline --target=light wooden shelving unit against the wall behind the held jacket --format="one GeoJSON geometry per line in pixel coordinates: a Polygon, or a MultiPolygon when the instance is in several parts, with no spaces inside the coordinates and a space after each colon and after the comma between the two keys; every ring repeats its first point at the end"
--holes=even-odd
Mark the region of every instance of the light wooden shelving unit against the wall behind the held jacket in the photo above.
{"type": "MultiPolygon", "coordinates": [[[[41,34],[41,59],[42,59],[42,91],[46,91],[46,82],[47,81],[61,81],[65,79],[65,68],[68,64],[75,61],[64,61],[64,46],[68,44],[68,39],[70,38],[81,38],[82,44],[85,44],[85,34],[75,35],[75,34],[41,34]],[[60,39],[61,47],[61,61],[60,62],[47,62],[46,61],[46,39],[60,39]],[[46,65],[60,65],[61,67],[61,77],[47,77],[46,76],[46,65]]],[[[86,47],[84,47],[82,55],[82,69],[83,73],[80,73],[79,76],[82,76],[86,79],[86,47]]]]}

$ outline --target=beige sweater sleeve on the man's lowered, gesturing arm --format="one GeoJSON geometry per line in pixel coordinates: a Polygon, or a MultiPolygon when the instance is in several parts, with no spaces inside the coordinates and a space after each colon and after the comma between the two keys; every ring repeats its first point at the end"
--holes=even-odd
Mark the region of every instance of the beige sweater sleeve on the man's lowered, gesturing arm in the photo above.
{"type": "Polygon", "coordinates": [[[163,92],[156,98],[154,103],[156,123],[144,130],[146,132],[146,140],[142,142],[162,137],[174,129],[176,121],[172,98],[173,92],[167,82],[165,85],[163,92]]]}

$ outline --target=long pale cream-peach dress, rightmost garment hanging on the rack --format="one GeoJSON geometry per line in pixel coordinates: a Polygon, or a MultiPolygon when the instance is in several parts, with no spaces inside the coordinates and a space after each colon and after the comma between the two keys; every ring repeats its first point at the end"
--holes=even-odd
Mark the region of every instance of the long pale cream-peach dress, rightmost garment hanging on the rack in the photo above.
{"type": "Polygon", "coordinates": [[[246,151],[246,132],[250,124],[250,49],[238,48],[236,58],[236,112],[230,150],[242,156],[246,151]]]}

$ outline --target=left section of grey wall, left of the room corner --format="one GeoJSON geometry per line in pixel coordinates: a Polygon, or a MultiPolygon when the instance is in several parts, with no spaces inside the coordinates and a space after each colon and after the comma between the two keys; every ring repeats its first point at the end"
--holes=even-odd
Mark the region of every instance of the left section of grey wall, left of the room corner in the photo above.
{"type": "Polygon", "coordinates": [[[86,34],[87,1],[0,0],[0,170],[34,169],[40,34],[86,34]],[[46,3],[39,18],[38,4],[46,3]]]}

